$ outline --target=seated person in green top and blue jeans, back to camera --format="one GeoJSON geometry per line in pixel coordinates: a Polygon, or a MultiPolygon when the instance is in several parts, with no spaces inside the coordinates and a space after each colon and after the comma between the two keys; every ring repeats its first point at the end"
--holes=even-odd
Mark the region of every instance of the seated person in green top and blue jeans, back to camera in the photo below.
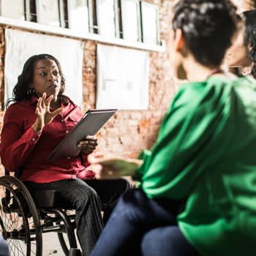
{"type": "Polygon", "coordinates": [[[91,155],[99,178],[140,181],[92,256],[256,255],[256,84],[222,71],[238,25],[229,0],[180,0],[170,58],[186,79],[139,159],[91,155]]]}

